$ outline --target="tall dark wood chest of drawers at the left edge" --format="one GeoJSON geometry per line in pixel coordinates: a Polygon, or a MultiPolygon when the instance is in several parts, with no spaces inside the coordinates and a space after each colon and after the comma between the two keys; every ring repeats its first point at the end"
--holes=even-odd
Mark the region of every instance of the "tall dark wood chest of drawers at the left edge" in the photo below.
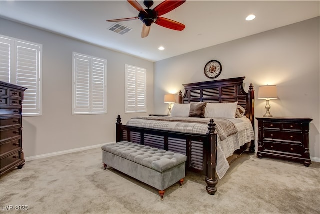
{"type": "Polygon", "coordinates": [[[0,81],[0,175],[15,167],[22,168],[22,100],[26,88],[0,81]]]}

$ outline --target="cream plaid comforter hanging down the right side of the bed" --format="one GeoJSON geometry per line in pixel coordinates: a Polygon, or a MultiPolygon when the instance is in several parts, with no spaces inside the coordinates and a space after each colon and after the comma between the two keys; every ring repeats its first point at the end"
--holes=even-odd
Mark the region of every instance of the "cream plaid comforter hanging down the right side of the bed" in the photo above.
{"type": "MultiPolygon", "coordinates": [[[[237,132],[235,134],[227,136],[224,140],[221,140],[219,135],[217,137],[216,173],[220,179],[230,168],[230,165],[226,158],[231,156],[236,149],[240,148],[240,146],[244,145],[247,142],[250,142],[251,140],[254,140],[253,127],[251,121],[248,118],[241,117],[225,119],[231,121],[235,125],[237,132]]],[[[206,134],[206,132],[208,131],[207,123],[209,122],[210,118],[196,118],[196,121],[200,120],[201,123],[197,122],[194,124],[190,124],[190,122],[183,122],[183,120],[185,120],[185,118],[181,117],[154,117],[154,120],[152,120],[152,118],[150,117],[148,117],[147,120],[143,119],[143,117],[139,117],[131,118],[126,125],[199,134],[206,134]],[[173,119],[177,119],[178,122],[166,121],[173,119]],[[176,128],[178,130],[176,130],[176,128]]],[[[215,123],[217,123],[218,121],[219,120],[216,119],[215,123]]]]}

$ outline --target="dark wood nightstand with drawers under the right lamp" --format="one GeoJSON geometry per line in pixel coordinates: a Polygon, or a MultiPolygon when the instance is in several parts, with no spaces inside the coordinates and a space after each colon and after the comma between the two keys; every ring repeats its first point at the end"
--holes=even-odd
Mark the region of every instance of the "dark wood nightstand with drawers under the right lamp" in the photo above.
{"type": "Polygon", "coordinates": [[[256,117],[259,129],[257,156],[311,164],[309,152],[310,118],[256,117]]]}

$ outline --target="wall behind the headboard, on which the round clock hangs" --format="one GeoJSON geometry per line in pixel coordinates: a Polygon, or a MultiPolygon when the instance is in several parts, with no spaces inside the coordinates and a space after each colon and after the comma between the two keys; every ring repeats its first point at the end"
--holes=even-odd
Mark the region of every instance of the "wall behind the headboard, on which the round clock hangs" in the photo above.
{"type": "MultiPolygon", "coordinates": [[[[245,76],[257,98],[260,85],[277,85],[277,100],[270,100],[273,116],[309,117],[310,155],[320,161],[320,56],[319,17],[215,45],[154,63],[155,112],[167,112],[165,93],[177,93],[184,83],[210,80],[204,65],[222,63],[217,79],[245,76]]],[[[186,45],[186,44],[185,44],[186,45]]],[[[255,116],[265,113],[265,100],[255,99],[255,116]]],[[[257,130],[257,129],[256,129],[257,130]]],[[[257,138],[257,132],[256,132],[257,138]]]]}

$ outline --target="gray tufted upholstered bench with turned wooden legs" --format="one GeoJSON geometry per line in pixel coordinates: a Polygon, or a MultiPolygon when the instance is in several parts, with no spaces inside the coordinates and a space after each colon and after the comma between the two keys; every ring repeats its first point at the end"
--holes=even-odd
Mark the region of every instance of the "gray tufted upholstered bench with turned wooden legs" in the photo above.
{"type": "Polygon", "coordinates": [[[186,156],[149,146],[121,141],[102,146],[104,169],[107,165],[159,190],[161,200],[165,189],[185,177],[186,156]]]}

